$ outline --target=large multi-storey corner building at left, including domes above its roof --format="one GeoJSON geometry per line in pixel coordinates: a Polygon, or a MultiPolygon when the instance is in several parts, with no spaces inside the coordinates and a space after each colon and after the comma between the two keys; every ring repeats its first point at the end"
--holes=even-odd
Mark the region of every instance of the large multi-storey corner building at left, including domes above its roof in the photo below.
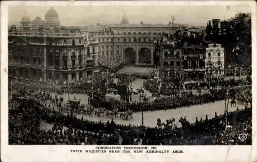
{"type": "Polygon", "coordinates": [[[70,81],[87,78],[98,71],[96,38],[89,36],[90,43],[85,48],[86,33],[80,27],[60,27],[58,13],[53,8],[46,12],[45,22],[36,17],[31,23],[32,27],[26,16],[20,28],[10,28],[9,75],[70,81]]]}

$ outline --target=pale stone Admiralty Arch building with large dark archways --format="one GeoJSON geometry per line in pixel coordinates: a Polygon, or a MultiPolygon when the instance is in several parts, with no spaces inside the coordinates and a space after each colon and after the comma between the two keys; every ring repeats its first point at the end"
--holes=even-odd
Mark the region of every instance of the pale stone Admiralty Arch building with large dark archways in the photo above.
{"type": "MultiPolygon", "coordinates": [[[[130,24],[124,14],[121,24],[105,26],[108,29],[98,31],[99,57],[120,57],[124,64],[155,64],[153,40],[160,39],[162,33],[173,33],[186,29],[188,25],[167,24],[130,24]]],[[[102,29],[102,27],[100,27],[102,29]]]]}

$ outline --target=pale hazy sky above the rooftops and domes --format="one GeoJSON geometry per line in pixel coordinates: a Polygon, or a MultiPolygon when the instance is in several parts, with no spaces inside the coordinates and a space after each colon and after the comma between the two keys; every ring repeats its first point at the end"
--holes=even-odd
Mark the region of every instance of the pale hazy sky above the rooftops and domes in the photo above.
{"type": "Polygon", "coordinates": [[[125,13],[131,24],[168,24],[175,16],[174,23],[189,26],[206,26],[213,18],[227,19],[238,12],[250,12],[249,6],[9,6],[8,25],[20,25],[22,15],[27,12],[31,21],[40,16],[45,19],[47,10],[53,7],[59,14],[61,25],[81,26],[120,24],[125,13]]]}

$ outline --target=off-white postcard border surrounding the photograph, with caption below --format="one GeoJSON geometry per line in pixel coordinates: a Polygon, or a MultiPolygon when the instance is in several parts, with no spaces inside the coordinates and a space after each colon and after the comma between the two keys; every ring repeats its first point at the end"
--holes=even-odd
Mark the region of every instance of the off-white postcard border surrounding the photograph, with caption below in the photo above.
{"type": "MultiPolygon", "coordinates": [[[[254,1],[11,1],[1,2],[1,160],[2,161],[257,161],[256,102],[253,102],[252,146],[157,146],[158,150],[183,150],[182,154],[70,153],[70,149],[95,150],[96,146],[8,146],[8,6],[13,5],[251,5],[252,100],[256,101],[256,4],[254,1]]],[[[208,11],[207,11],[208,12],[208,11]]],[[[217,11],[218,12],[218,11],[217,11]]],[[[151,146],[147,146],[151,148],[151,146]]],[[[123,148],[123,146],[121,146],[123,148]]]]}

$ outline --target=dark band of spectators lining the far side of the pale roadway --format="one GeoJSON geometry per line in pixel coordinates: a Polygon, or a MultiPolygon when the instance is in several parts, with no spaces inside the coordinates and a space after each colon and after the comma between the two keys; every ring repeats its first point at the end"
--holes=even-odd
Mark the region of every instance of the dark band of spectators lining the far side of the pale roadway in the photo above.
{"type": "MultiPolygon", "coordinates": [[[[250,86],[244,87],[232,87],[232,88],[222,88],[210,90],[209,93],[204,94],[193,94],[192,92],[186,92],[181,95],[165,95],[160,98],[156,98],[153,102],[145,101],[142,97],[141,102],[120,102],[117,100],[103,100],[99,98],[93,98],[90,100],[90,104],[95,107],[104,107],[108,110],[117,109],[120,112],[124,112],[127,109],[134,112],[139,111],[155,111],[155,110],[167,110],[176,109],[180,107],[190,107],[193,105],[203,105],[208,103],[213,103],[218,100],[223,100],[226,97],[226,92],[228,91],[228,97],[231,100],[236,99],[236,94],[240,94],[245,90],[251,89],[250,86]],[[145,101],[145,102],[143,102],[145,101]]],[[[250,103],[250,102],[248,102],[250,103]]]]}

